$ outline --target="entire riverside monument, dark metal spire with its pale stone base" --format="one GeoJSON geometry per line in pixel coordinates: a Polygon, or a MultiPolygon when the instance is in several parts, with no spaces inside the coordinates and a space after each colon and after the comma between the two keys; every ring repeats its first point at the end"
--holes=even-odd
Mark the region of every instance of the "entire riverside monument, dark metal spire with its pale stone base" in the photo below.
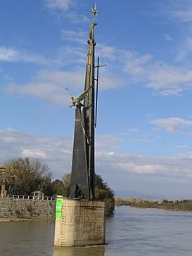
{"type": "Polygon", "coordinates": [[[105,203],[96,200],[95,196],[94,129],[97,113],[98,68],[100,67],[99,58],[95,65],[94,27],[97,25],[95,17],[98,12],[96,4],[91,12],[93,21],[87,41],[84,91],[77,98],[71,95],[72,106],[75,107],[75,134],[70,193],[68,198],[56,200],[54,245],[58,246],[105,243],[105,203]],[[96,78],[95,68],[97,68],[96,78]]]}

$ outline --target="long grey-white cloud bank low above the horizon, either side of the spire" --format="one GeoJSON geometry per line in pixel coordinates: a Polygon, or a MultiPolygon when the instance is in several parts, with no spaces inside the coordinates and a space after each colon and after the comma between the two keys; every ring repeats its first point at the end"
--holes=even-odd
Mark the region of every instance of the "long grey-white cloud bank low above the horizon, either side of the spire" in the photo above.
{"type": "MultiPolygon", "coordinates": [[[[180,196],[186,195],[186,184],[191,186],[192,181],[191,152],[175,158],[117,153],[120,141],[118,136],[96,136],[96,173],[101,174],[111,188],[135,190],[139,186],[139,191],[144,192],[153,191],[154,186],[159,191],[162,186],[170,190],[172,186],[175,196],[175,184],[177,187],[185,184],[180,196]],[[143,181],[147,182],[147,188],[143,181]]],[[[0,132],[0,143],[0,162],[25,156],[40,158],[49,165],[54,179],[61,179],[71,170],[72,138],[40,136],[9,128],[0,132]]]]}

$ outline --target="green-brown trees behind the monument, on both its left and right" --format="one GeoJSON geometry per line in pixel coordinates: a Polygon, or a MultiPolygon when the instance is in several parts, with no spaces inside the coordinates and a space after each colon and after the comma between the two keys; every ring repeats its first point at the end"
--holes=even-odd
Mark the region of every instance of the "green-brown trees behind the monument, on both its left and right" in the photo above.
{"type": "MultiPolygon", "coordinates": [[[[68,197],[71,174],[65,174],[63,180],[52,181],[48,165],[39,159],[15,158],[4,163],[6,167],[5,187],[7,194],[30,196],[41,191],[44,196],[62,195],[68,197]]],[[[96,200],[105,201],[106,215],[115,211],[115,195],[100,175],[96,174],[96,200]]]]}

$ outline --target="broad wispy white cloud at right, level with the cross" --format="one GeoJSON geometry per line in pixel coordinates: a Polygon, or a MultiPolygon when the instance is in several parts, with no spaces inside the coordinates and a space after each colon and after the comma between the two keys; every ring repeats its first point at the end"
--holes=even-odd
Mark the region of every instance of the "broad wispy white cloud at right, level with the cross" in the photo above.
{"type": "Polygon", "coordinates": [[[192,69],[186,66],[169,65],[154,60],[151,55],[139,56],[132,51],[120,51],[120,60],[124,73],[129,75],[129,83],[143,83],[153,89],[155,94],[180,95],[192,88],[192,69]]]}

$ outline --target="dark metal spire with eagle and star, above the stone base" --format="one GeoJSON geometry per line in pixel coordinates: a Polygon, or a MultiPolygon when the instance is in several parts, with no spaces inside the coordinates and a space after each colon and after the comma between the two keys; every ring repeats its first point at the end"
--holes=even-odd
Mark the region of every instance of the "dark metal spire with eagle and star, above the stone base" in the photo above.
{"type": "Polygon", "coordinates": [[[95,17],[98,12],[96,4],[91,9],[93,21],[91,23],[87,66],[85,75],[84,92],[79,97],[72,98],[72,105],[75,106],[75,134],[72,154],[72,175],[70,184],[70,198],[95,198],[95,141],[94,129],[96,127],[95,104],[95,81],[96,83],[96,101],[98,95],[98,74],[95,79],[95,46],[94,27],[95,17]]]}

